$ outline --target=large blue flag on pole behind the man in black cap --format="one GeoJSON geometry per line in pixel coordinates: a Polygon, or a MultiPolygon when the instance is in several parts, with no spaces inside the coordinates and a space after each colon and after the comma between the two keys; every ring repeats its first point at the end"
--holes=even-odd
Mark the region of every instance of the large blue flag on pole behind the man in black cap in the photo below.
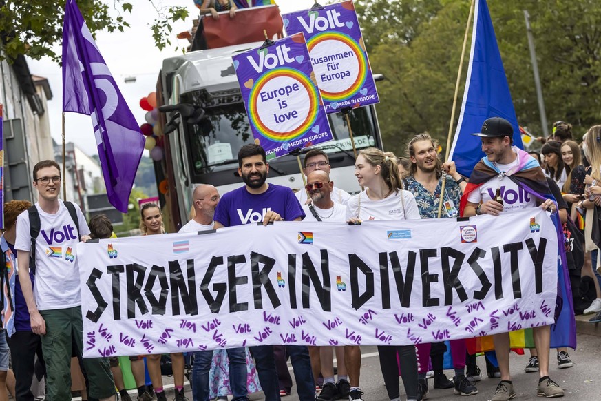
{"type": "Polygon", "coordinates": [[[471,134],[480,132],[482,124],[490,117],[503,117],[509,121],[514,127],[514,145],[523,149],[518,119],[486,0],[476,1],[474,15],[470,66],[449,156],[455,162],[457,171],[464,176],[470,176],[476,163],[485,156],[481,149],[481,138],[471,134]]]}

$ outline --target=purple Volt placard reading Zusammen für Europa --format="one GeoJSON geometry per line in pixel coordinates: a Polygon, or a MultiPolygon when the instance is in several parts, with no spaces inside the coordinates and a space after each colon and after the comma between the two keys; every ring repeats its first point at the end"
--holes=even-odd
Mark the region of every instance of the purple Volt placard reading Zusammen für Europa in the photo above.
{"type": "Polygon", "coordinates": [[[352,1],[282,15],[286,32],[304,33],[328,114],[378,103],[352,1]]]}

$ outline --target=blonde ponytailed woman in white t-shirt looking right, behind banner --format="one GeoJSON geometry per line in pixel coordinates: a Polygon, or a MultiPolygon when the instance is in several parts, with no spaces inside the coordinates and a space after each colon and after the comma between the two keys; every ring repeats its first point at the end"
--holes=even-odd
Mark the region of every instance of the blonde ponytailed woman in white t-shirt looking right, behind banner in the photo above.
{"type": "MultiPolygon", "coordinates": [[[[346,218],[361,220],[417,220],[419,209],[411,192],[402,189],[397,157],[374,147],[361,150],[355,162],[355,176],[365,191],[348,200],[346,218]]],[[[414,345],[378,346],[380,367],[390,400],[399,400],[399,353],[407,400],[417,400],[417,357],[414,345]]]]}

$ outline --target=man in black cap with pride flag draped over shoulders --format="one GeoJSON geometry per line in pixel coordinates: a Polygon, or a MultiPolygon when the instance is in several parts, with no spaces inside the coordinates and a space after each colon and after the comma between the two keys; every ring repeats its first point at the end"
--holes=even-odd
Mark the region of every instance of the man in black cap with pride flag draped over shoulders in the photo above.
{"type": "MultiPolygon", "coordinates": [[[[537,202],[537,199],[520,185],[527,183],[538,194],[550,192],[538,163],[530,160],[531,156],[523,150],[512,146],[513,134],[514,130],[509,121],[500,117],[487,119],[482,125],[481,132],[474,134],[481,137],[482,150],[486,157],[478,162],[470,176],[470,183],[478,186],[465,192],[461,203],[463,216],[476,214],[498,216],[512,210],[536,207],[537,204],[540,204],[542,209],[556,212],[556,205],[552,200],[537,202]],[[503,204],[493,200],[497,189],[500,189],[503,196],[503,204]]],[[[532,330],[540,360],[538,395],[549,398],[562,397],[562,388],[548,376],[550,326],[534,327],[532,330]]],[[[516,396],[509,375],[509,333],[496,334],[493,339],[501,381],[491,401],[508,401],[516,396]]]]}

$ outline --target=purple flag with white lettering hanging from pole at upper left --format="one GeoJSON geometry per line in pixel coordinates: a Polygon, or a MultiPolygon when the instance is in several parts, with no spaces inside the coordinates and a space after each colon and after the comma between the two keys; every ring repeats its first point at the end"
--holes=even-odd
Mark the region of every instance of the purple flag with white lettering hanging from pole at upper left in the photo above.
{"type": "Polygon", "coordinates": [[[74,0],[63,22],[63,112],[92,116],[107,196],[127,213],[145,139],[74,0]]]}

